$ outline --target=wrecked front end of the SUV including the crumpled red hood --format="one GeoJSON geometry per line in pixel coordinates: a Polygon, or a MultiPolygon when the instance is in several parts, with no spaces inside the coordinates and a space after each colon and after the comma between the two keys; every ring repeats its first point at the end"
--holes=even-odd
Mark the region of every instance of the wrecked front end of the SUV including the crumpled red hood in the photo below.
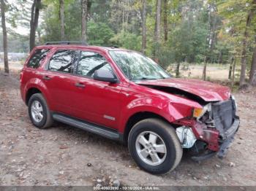
{"type": "Polygon", "coordinates": [[[171,103],[176,104],[172,109],[177,110],[177,103],[181,103],[183,108],[189,106],[192,109],[184,109],[189,110],[187,114],[181,114],[186,117],[178,118],[172,124],[176,125],[181,146],[193,155],[193,160],[205,160],[213,155],[220,158],[225,156],[240,123],[236,116],[236,101],[228,87],[200,80],[173,78],[138,84],[171,95],[171,103]],[[190,106],[190,103],[184,103],[183,98],[200,106],[190,106]]]}

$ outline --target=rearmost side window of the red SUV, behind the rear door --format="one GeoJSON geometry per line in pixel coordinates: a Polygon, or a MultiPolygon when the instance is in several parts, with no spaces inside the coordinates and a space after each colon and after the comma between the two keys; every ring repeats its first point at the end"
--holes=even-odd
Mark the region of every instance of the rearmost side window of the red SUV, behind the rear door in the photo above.
{"type": "Polygon", "coordinates": [[[49,52],[49,49],[37,49],[34,54],[29,59],[27,67],[32,69],[37,69],[40,66],[41,61],[43,61],[49,52]]]}

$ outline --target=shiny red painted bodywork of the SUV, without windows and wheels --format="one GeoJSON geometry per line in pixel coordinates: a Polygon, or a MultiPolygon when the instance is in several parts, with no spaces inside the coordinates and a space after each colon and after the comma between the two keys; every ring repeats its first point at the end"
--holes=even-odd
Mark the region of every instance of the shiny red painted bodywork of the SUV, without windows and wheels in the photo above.
{"type": "MultiPolygon", "coordinates": [[[[207,129],[195,120],[184,120],[184,117],[191,117],[193,108],[202,108],[200,104],[171,93],[164,93],[129,82],[118,66],[116,66],[116,63],[110,58],[108,50],[113,50],[112,48],[79,45],[45,45],[36,47],[34,50],[38,48],[49,48],[50,52],[45,60],[41,62],[38,69],[26,67],[29,58],[26,60],[23,71],[20,74],[20,91],[24,101],[29,89],[34,87],[45,96],[51,111],[61,112],[82,120],[105,125],[118,130],[120,133],[124,133],[127,121],[132,115],[138,112],[152,112],[169,122],[191,126],[197,139],[208,142],[208,149],[218,149],[219,133],[217,130],[207,129]],[[53,53],[59,49],[99,52],[113,67],[118,77],[118,83],[110,84],[75,74],[48,71],[45,69],[45,65],[47,65],[53,53]],[[45,80],[42,78],[44,76],[48,76],[51,79],[45,80]],[[76,87],[75,83],[77,82],[83,83],[86,85],[86,88],[76,87]],[[104,115],[114,117],[115,120],[106,119],[104,115]],[[200,138],[200,136],[203,136],[203,138],[200,138]]],[[[31,52],[31,55],[34,50],[31,52]]],[[[145,85],[177,87],[198,95],[205,101],[222,101],[230,97],[230,90],[227,87],[194,79],[171,78],[141,81],[141,83],[145,85]]]]}

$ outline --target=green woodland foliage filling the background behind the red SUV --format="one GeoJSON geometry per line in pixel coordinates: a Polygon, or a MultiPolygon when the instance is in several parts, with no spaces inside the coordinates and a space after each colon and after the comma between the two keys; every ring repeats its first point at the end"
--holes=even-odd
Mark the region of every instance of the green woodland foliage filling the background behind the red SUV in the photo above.
{"type": "MultiPolygon", "coordinates": [[[[31,2],[17,0],[8,3],[7,22],[15,28],[29,28],[31,2]]],[[[146,7],[146,55],[154,58],[165,69],[176,63],[230,63],[236,56],[240,63],[246,17],[252,9],[252,0],[167,0],[167,41],[164,40],[164,15],[161,15],[161,42],[156,43],[156,0],[148,0],[146,7]]],[[[66,40],[80,40],[80,0],[64,1],[64,33],[66,40]]],[[[42,0],[40,4],[37,44],[61,40],[59,0],[42,0]]],[[[164,11],[162,3],[162,13],[164,11]]],[[[87,39],[89,44],[118,46],[141,50],[142,1],[139,0],[89,0],[87,39]]],[[[29,36],[18,35],[7,28],[10,44],[23,46],[29,36]]],[[[256,17],[252,17],[247,45],[247,63],[251,62],[255,46],[256,17]]],[[[9,46],[10,47],[10,46],[9,46]]],[[[249,64],[247,64],[249,67],[249,64]]],[[[238,68],[238,67],[237,67],[238,68]]]]}

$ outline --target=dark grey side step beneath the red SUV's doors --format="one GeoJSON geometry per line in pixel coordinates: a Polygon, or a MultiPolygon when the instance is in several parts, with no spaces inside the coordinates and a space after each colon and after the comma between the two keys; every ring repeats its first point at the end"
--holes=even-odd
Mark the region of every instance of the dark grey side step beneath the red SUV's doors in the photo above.
{"type": "Polygon", "coordinates": [[[99,136],[104,136],[108,139],[112,139],[116,141],[120,141],[121,139],[117,131],[93,124],[91,122],[77,120],[75,118],[67,117],[63,114],[56,114],[56,113],[53,113],[53,119],[59,122],[63,122],[67,125],[72,125],[75,128],[80,128],[82,130],[87,130],[91,133],[95,133],[99,136]]]}

